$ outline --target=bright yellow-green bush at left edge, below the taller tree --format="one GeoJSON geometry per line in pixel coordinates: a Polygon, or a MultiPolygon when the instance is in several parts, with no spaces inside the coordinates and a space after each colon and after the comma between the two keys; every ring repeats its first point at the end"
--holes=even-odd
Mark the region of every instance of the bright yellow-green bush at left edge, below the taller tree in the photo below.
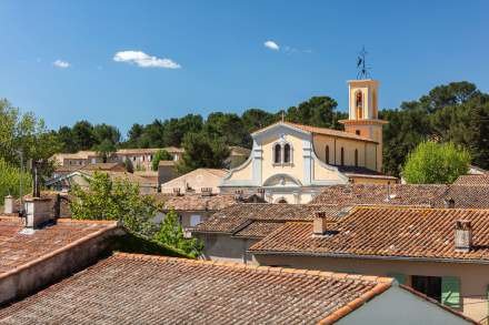
{"type": "Polygon", "coordinates": [[[19,197],[20,177],[23,183],[23,194],[32,191],[32,177],[30,173],[21,173],[19,167],[0,159],[0,197],[12,195],[19,197]]]}

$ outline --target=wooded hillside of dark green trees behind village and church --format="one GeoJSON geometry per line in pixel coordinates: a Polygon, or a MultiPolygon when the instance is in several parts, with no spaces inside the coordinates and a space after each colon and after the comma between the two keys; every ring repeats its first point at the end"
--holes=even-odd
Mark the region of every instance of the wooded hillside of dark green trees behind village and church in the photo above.
{"type": "MultiPolygon", "coordinates": [[[[338,110],[329,97],[313,97],[296,106],[271,113],[248,109],[242,114],[213,112],[207,119],[187,114],[179,119],[156,119],[149,124],[133,124],[127,138],[114,125],[79,121],[72,126],[50,131],[32,113],[21,114],[7,101],[0,102],[0,159],[18,165],[16,149],[27,159],[49,158],[54,152],[94,150],[103,156],[123,148],[179,146],[187,150],[181,171],[220,167],[228,154],[221,146],[251,148],[250,133],[280,121],[341,130],[338,110]]],[[[472,163],[489,169],[489,94],[470,82],[452,82],[433,88],[418,100],[379,112],[389,121],[383,129],[385,172],[399,175],[409,152],[423,141],[452,142],[465,148],[472,163]]]]}

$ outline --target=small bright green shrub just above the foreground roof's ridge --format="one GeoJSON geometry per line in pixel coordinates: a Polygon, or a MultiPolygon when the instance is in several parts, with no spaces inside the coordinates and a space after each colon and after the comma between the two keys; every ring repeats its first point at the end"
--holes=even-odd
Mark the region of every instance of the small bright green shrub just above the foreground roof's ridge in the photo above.
{"type": "Polygon", "coordinates": [[[178,222],[178,214],[174,210],[170,210],[167,213],[153,238],[161,244],[176,247],[190,256],[199,256],[203,251],[203,245],[200,241],[183,236],[183,228],[178,222]]]}

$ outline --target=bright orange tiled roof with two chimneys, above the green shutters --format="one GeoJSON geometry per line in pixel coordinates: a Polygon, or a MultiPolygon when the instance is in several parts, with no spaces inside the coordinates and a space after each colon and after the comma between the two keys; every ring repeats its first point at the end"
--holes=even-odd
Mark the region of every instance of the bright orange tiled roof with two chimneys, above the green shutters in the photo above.
{"type": "Polygon", "coordinates": [[[312,236],[312,222],[291,222],[250,247],[252,253],[370,256],[489,263],[489,210],[356,207],[331,225],[332,234],[312,236]],[[472,224],[473,245],[455,251],[455,224],[472,224]]]}

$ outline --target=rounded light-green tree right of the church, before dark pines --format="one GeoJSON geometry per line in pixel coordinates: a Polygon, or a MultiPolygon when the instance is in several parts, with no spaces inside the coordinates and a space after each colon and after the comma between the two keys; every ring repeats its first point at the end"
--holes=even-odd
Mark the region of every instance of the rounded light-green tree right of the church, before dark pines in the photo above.
{"type": "Polygon", "coordinates": [[[402,176],[413,184],[450,184],[469,171],[470,153],[452,142],[421,142],[409,153],[402,176]]]}

